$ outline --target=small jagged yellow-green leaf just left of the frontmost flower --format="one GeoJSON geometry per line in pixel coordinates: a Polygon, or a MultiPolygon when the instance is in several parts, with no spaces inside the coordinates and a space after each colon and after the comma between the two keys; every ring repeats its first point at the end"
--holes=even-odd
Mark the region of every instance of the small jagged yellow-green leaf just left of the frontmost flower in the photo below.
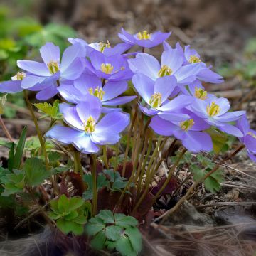
{"type": "Polygon", "coordinates": [[[51,119],[61,119],[62,114],[59,112],[59,100],[55,100],[53,105],[47,102],[36,103],[34,106],[39,110],[38,112],[43,113],[43,116],[40,118],[50,117],[51,119]]]}

